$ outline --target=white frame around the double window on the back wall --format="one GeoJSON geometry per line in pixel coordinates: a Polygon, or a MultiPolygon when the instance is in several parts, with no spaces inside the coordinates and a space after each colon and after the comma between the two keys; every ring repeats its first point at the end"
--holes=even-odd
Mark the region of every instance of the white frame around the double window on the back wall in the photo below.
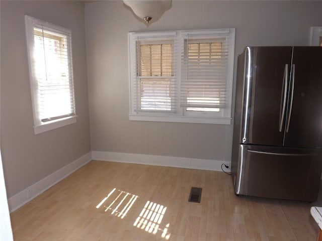
{"type": "Polygon", "coordinates": [[[234,61],[234,39],[235,29],[208,29],[208,30],[189,30],[189,31],[169,31],[169,32],[130,32],[128,34],[129,44],[129,101],[130,101],[130,121],[151,121],[151,122],[178,122],[178,123],[200,123],[200,124],[231,124],[231,100],[232,100],[232,83],[233,83],[233,61],[234,61]],[[186,111],[185,107],[180,107],[180,79],[181,79],[181,47],[184,45],[184,38],[190,36],[202,36],[203,38],[219,37],[222,34],[228,35],[229,38],[229,54],[227,65],[227,98],[226,108],[220,109],[218,112],[208,111],[186,111]],[[135,98],[135,81],[133,77],[133,68],[136,66],[136,56],[133,49],[136,48],[136,39],[157,39],[157,38],[173,38],[175,42],[175,64],[176,64],[176,82],[177,82],[177,108],[173,113],[170,112],[136,112],[134,107],[135,98]]]}

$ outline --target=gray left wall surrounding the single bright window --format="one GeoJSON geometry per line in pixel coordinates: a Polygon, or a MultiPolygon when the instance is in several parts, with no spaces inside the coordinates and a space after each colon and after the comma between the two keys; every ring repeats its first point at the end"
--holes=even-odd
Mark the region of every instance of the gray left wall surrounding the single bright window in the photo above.
{"type": "Polygon", "coordinates": [[[1,1],[1,149],[8,197],[90,152],[84,4],[1,1]],[[77,121],[34,135],[24,15],[72,30],[77,121]]]}

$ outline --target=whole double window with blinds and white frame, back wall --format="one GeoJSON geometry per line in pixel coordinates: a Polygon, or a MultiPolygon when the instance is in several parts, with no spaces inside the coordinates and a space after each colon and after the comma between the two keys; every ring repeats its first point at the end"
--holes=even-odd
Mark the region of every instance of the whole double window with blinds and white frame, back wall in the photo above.
{"type": "Polygon", "coordinates": [[[234,32],[129,33],[130,120],[230,124],[234,32]]]}

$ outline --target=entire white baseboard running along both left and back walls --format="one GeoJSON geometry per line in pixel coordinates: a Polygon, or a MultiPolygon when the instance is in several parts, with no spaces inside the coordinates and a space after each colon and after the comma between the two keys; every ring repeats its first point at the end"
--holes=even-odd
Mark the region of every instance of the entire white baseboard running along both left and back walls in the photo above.
{"type": "MultiPolygon", "coordinates": [[[[110,162],[123,162],[153,166],[165,166],[165,167],[178,167],[200,170],[212,170],[221,171],[221,164],[227,163],[227,161],[218,160],[206,160],[206,159],[194,159],[185,157],[168,157],[168,156],[156,156],[145,154],[132,154],[132,153],[117,153],[117,152],[98,152],[93,151],[85,154],[77,160],[69,163],[63,168],[55,171],[49,176],[36,182],[30,187],[22,190],[16,195],[8,199],[9,210],[13,212],[46,191],[48,188],[55,185],[57,182],[76,171],[78,168],[84,166],[91,160],[110,161],[110,162]],[[27,190],[31,188],[29,198],[27,198],[27,190]]],[[[229,169],[227,171],[230,171],[229,169]]]]}

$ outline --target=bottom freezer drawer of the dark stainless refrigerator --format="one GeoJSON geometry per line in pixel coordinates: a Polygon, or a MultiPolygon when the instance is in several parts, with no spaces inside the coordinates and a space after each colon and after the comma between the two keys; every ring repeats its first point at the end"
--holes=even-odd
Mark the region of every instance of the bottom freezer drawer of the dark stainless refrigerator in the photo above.
{"type": "Polygon", "coordinates": [[[320,160],[320,149],[240,145],[235,194],[315,201],[320,160]]]}

